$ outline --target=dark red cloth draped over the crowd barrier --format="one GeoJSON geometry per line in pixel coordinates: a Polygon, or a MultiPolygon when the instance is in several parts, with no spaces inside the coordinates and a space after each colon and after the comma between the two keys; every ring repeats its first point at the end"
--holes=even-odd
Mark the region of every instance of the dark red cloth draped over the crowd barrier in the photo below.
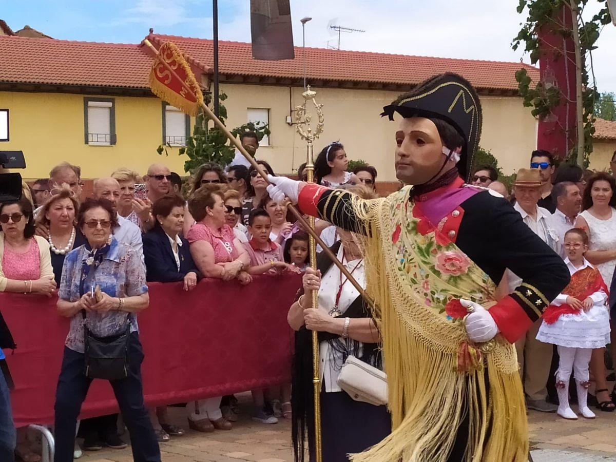
{"type": "MultiPolygon", "coordinates": [[[[190,292],[182,283],[150,283],[150,306],[139,314],[148,407],[188,402],[291,381],[293,331],[286,322],[301,285],[296,274],[237,281],[205,279],[190,292]]],[[[15,390],[15,424],[51,424],[69,320],[56,299],[0,293],[0,309],[17,343],[6,351],[15,390]]],[[[81,418],[117,411],[106,381],[95,380],[81,418]]]]}

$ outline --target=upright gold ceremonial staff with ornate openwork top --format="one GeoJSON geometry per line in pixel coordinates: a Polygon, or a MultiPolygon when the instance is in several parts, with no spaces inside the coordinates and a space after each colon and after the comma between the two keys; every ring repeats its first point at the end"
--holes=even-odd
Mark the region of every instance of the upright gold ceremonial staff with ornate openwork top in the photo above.
{"type": "MultiPolygon", "coordinates": [[[[306,171],[307,180],[309,183],[314,183],[314,153],[312,150],[312,142],[318,138],[323,132],[323,125],[325,118],[323,117],[323,104],[317,104],[314,97],[317,95],[315,91],[310,90],[310,85],[306,91],[302,93],[304,97],[304,103],[296,106],[295,111],[297,114],[296,130],[299,136],[303,140],[306,140],[306,171]],[[312,101],[317,112],[317,126],[312,131],[312,115],[307,111],[307,103],[312,101]]],[[[314,237],[314,217],[308,217],[309,229],[312,231],[308,240],[308,247],[310,249],[310,267],[317,269],[317,244],[314,237]]],[[[320,240],[320,239],[319,239],[320,240]]],[[[319,243],[325,250],[323,243],[319,243]]],[[[329,249],[328,249],[329,250],[329,249]]],[[[331,258],[331,257],[330,257],[331,258]]],[[[334,257],[334,261],[338,262],[338,259],[334,257]]],[[[344,266],[341,265],[342,268],[344,266]]],[[[310,299],[310,306],[312,308],[318,308],[318,293],[316,290],[312,291],[312,298],[310,299]]],[[[315,448],[315,461],[321,462],[321,380],[319,377],[319,345],[318,345],[318,332],[312,331],[312,385],[314,387],[314,448],[315,448]]]]}

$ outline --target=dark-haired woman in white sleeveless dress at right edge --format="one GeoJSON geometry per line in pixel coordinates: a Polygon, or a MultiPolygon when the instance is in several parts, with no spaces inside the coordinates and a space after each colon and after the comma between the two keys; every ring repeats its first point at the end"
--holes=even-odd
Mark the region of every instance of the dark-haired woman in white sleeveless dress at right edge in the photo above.
{"type": "MultiPolygon", "coordinates": [[[[586,231],[590,244],[585,257],[601,273],[604,282],[612,281],[616,268],[616,180],[606,172],[591,177],[582,195],[582,213],[575,227],[586,231]]],[[[615,313],[611,314],[612,320],[615,313]]],[[[616,357],[616,333],[612,325],[612,358],[616,357]]],[[[591,370],[596,383],[597,408],[614,411],[616,390],[607,391],[604,348],[593,350],[591,370]],[[610,399],[611,398],[611,399],[610,399]]]]}

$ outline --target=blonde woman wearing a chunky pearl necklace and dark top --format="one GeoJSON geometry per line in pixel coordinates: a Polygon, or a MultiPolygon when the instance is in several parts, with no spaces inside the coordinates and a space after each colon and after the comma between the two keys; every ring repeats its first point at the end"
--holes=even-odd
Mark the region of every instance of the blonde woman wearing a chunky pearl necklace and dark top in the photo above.
{"type": "Polygon", "coordinates": [[[55,282],[60,286],[64,257],[73,249],[86,243],[86,238],[75,227],[75,214],[79,203],[75,193],[63,189],[52,196],[39,211],[37,224],[49,229],[47,241],[51,252],[51,265],[54,268],[55,282]]]}

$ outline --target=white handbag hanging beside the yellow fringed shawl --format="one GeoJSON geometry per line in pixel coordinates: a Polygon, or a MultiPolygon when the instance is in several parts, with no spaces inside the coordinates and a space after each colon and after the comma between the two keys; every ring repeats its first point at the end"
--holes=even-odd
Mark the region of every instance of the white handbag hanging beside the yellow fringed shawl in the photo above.
{"type": "Polygon", "coordinates": [[[387,404],[387,374],[354,356],[347,357],[336,383],[355,401],[387,404]]]}

